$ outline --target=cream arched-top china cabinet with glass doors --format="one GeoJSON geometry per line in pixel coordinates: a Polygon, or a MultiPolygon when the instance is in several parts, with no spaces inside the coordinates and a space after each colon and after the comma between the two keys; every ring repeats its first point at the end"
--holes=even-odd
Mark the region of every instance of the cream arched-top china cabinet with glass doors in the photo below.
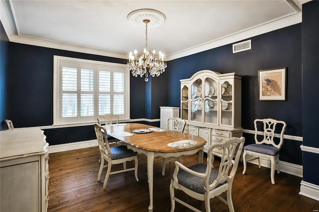
{"type": "MultiPolygon", "coordinates": [[[[180,80],[180,117],[186,120],[184,132],[212,142],[242,136],[241,75],[210,70],[180,80]]],[[[219,150],[214,149],[218,155],[219,150]]]]}

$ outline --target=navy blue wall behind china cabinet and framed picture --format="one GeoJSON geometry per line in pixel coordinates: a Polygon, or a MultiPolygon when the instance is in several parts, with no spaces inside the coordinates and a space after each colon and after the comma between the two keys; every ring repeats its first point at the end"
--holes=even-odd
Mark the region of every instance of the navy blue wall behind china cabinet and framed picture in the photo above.
{"type": "MultiPolygon", "coordinates": [[[[256,118],[275,118],[287,123],[285,134],[303,136],[302,126],[302,24],[252,37],[252,49],[232,53],[232,44],[169,61],[168,105],[180,106],[179,79],[208,69],[242,74],[242,127],[254,129],[256,118]],[[287,101],[258,101],[258,70],[287,67],[287,101]]],[[[253,143],[245,134],[245,144],[253,143]]],[[[285,140],[280,160],[302,165],[302,142],[285,140]]]]}

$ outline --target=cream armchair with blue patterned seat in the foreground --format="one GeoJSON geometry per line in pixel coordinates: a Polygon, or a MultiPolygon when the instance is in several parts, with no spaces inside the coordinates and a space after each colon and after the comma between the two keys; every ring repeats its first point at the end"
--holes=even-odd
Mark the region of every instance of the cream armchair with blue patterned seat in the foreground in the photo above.
{"type": "Polygon", "coordinates": [[[207,164],[199,163],[187,168],[175,161],[175,170],[169,186],[171,212],[175,210],[175,202],[195,212],[200,212],[175,197],[175,189],[183,191],[196,200],[205,201],[206,212],[210,212],[210,199],[214,197],[228,205],[230,212],[234,212],[231,190],[244,142],[244,137],[232,137],[224,142],[212,144],[207,151],[207,164]],[[223,152],[218,169],[213,168],[212,150],[214,148],[219,148],[223,152]],[[235,159],[233,159],[234,154],[236,154],[235,159]],[[224,192],[226,192],[227,201],[220,197],[224,192]]]}

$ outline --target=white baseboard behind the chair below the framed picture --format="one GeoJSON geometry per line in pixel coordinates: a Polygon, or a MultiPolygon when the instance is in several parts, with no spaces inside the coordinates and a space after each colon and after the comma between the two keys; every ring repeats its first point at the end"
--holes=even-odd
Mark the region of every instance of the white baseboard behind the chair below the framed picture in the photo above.
{"type": "MultiPolygon", "coordinates": [[[[246,160],[249,160],[251,158],[253,158],[253,157],[246,155],[246,160]]],[[[258,165],[257,160],[252,160],[252,161],[249,161],[248,163],[258,165]]],[[[263,158],[260,158],[260,165],[263,167],[267,167],[267,168],[271,167],[270,160],[266,160],[263,158]]],[[[303,177],[303,166],[302,165],[288,163],[285,161],[279,161],[279,167],[280,167],[281,172],[285,172],[287,174],[295,175],[295,176],[301,177],[301,178],[303,177]]]]}

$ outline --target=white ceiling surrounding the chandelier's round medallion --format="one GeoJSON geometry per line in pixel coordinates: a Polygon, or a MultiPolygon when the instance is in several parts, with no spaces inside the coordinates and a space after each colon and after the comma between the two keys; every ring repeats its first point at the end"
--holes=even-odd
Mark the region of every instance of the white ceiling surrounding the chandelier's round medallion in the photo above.
{"type": "Polygon", "coordinates": [[[130,50],[144,46],[145,24],[137,27],[127,20],[127,15],[136,9],[152,8],[164,13],[166,20],[156,28],[151,28],[151,20],[148,46],[164,52],[166,59],[174,59],[216,47],[216,42],[225,45],[301,22],[302,3],[299,0],[1,0],[1,11],[5,11],[1,22],[8,21],[3,25],[9,26],[11,32],[6,32],[13,42],[24,39],[60,46],[63,43],[128,58],[130,50]]]}

